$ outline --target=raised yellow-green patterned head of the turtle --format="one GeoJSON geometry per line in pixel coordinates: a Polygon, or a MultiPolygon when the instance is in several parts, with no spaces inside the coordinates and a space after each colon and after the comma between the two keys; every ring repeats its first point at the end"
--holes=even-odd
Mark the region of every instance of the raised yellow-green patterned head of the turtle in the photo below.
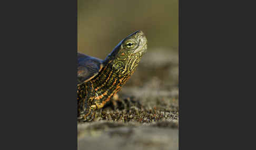
{"type": "Polygon", "coordinates": [[[124,38],[107,56],[105,62],[111,62],[119,76],[131,75],[146,49],[147,39],[141,30],[137,30],[124,38]]]}

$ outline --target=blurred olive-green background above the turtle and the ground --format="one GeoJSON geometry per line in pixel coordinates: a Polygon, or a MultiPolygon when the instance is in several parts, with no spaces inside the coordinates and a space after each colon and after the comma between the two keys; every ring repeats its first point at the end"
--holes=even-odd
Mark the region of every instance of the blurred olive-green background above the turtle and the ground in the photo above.
{"type": "Polygon", "coordinates": [[[142,30],[148,51],[178,53],[178,0],[77,1],[78,52],[104,59],[127,35],[142,30]]]}

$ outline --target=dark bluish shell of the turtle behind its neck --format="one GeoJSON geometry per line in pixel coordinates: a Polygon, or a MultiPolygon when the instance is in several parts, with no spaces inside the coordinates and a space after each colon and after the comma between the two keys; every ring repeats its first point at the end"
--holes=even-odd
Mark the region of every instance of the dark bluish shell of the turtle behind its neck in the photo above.
{"type": "Polygon", "coordinates": [[[77,53],[77,84],[82,84],[90,81],[95,77],[102,69],[102,61],[99,58],[77,53]]]}

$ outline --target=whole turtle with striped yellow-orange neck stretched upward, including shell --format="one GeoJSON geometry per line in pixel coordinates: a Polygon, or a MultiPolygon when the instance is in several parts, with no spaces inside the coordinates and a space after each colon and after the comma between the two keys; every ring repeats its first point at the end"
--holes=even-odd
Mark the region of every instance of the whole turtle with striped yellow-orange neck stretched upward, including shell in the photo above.
{"type": "Polygon", "coordinates": [[[147,50],[147,39],[137,30],[117,44],[104,60],[77,52],[77,120],[92,121],[130,79],[147,50]]]}

